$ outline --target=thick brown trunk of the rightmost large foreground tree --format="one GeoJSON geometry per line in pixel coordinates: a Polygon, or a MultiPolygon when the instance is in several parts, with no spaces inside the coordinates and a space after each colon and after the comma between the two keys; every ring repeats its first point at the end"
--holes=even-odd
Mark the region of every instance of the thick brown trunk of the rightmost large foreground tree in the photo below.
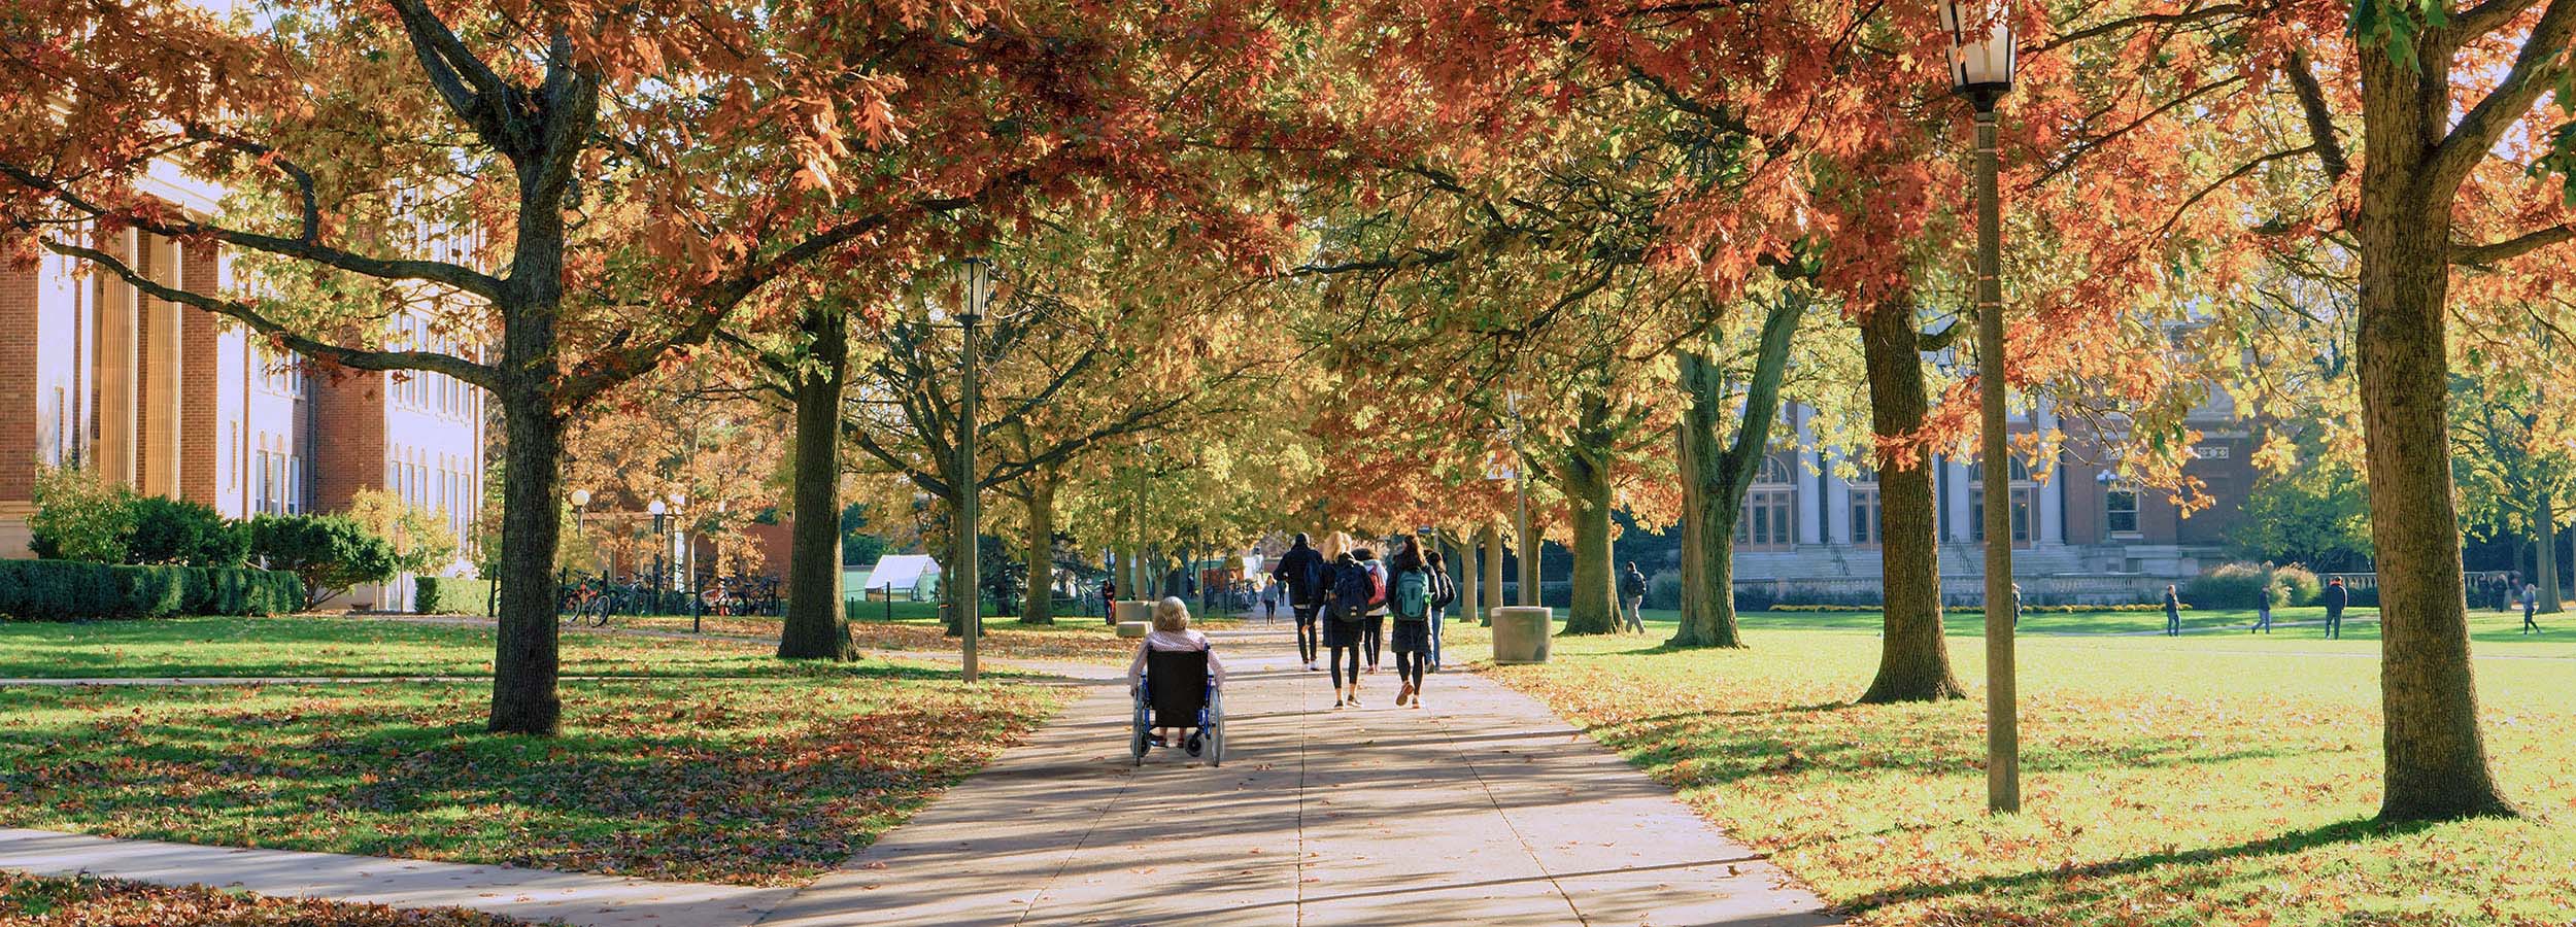
{"type": "MultiPolygon", "coordinates": [[[[2380,706],[2391,821],[2514,814],[2478,731],[2450,479],[2445,309],[2458,183],[2432,175],[2450,121],[2442,67],[2362,54],[2360,332],[2370,543],[2380,585],[2380,706]],[[2427,93],[2432,90],[2432,93],[2427,93]]],[[[2447,64],[2447,62],[2442,62],[2447,64]]]]}

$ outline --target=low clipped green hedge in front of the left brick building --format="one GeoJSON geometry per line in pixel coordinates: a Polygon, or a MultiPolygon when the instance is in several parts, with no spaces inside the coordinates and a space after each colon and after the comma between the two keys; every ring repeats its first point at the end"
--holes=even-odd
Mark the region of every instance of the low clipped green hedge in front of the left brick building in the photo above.
{"type": "Polygon", "coordinates": [[[23,621],[276,615],[304,582],[273,569],[0,561],[0,615],[23,621]]]}

